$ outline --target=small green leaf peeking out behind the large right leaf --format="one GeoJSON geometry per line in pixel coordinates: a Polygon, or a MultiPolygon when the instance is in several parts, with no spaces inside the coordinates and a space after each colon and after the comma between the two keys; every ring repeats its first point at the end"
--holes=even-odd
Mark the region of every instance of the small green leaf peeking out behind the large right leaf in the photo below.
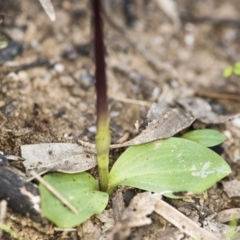
{"type": "Polygon", "coordinates": [[[213,129],[200,129],[188,132],[182,136],[194,142],[201,143],[206,147],[216,146],[226,140],[226,137],[213,129]]]}

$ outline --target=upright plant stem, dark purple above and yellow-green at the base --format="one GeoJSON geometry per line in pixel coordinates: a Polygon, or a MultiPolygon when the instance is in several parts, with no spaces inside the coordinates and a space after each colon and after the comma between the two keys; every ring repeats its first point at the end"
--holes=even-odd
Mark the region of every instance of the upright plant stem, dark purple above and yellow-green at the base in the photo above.
{"type": "Polygon", "coordinates": [[[92,0],[94,22],[94,53],[96,65],[96,93],[97,93],[97,135],[96,149],[98,160],[98,172],[100,190],[108,188],[108,165],[109,165],[109,115],[107,104],[107,80],[104,59],[103,26],[101,19],[101,0],[92,0]]]}

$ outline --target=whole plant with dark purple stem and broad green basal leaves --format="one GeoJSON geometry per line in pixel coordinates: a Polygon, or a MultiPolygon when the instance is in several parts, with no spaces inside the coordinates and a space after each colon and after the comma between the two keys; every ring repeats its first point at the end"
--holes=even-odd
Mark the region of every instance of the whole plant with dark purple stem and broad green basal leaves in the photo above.
{"type": "MultiPolygon", "coordinates": [[[[52,19],[49,0],[40,0],[52,19]],[[48,5],[46,5],[46,2],[48,5]],[[45,4],[45,5],[44,5],[45,4]],[[50,9],[50,13],[49,10],[50,9]]],[[[100,0],[91,0],[94,23],[95,78],[97,95],[96,152],[99,182],[89,173],[49,173],[44,179],[76,209],[73,213],[40,184],[42,214],[62,228],[77,226],[107,206],[117,186],[130,186],[179,198],[179,192],[199,194],[227,176],[231,169],[208,147],[225,140],[215,130],[196,130],[180,138],[171,137],[130,146],[109,171],[109,113],[100,0]]]]}

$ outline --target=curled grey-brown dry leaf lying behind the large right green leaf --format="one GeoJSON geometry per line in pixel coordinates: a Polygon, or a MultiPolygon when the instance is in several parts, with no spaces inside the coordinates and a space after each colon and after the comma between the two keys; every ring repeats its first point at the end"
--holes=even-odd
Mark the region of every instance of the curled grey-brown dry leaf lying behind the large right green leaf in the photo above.
{"type": "MultiPolygon", "coordinates": [[[[212,111],[208,102],[197,97],[188,97],[177,102],[184,109],[181,107],[170,107],[164,102],[153,103],[148,111],[145,126],[139,126],[139,128],[145,127],[145,129],[135,138],[121,144],[112,144],[110,148],[128,147],[170,138],[189,127],[196,119],[207,124],[220,124],[240,116],[240,113],[218,115],[212,111]]],[[[82,140],[78,140],[78,143],[95,148],[95,144],[82,140]]]]}

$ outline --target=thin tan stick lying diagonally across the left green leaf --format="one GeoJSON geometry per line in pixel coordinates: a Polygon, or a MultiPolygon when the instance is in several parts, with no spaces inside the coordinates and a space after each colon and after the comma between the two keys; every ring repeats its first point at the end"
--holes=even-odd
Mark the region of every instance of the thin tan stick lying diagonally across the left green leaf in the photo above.
{"type": "Polygon", "coordinates": [[[31,171],[31,175],[36,178],[45,188],[47,188],[55,197],[57,197],[64,205],[66,205],[73,213],[78,215],[78,210],[60,194],[53,186],[51,186],[47,181],[45,181],[39,174],[31,171]]]}

